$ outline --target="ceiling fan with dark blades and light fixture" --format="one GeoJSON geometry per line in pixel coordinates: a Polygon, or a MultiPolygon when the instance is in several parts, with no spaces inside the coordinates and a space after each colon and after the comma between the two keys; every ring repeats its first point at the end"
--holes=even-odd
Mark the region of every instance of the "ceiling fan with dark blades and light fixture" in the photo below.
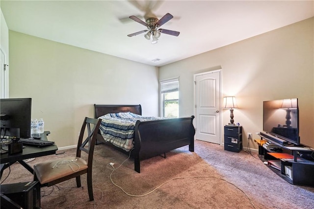
{"type": "Polygon", "coordinates": [[[128,35],[129,37],[136,36],[138,34],[147,32],[144,35],[144,37],[147,40],[151,40],[152,44],[156,44],[158,41],[158,38],[160,37],[160,33],[173,35],[173,36],[178,36],[180,34],[180,32],[178,32],[178,31],[159,28],[160,26],[167,23],[169,20],[171,20],[173,18],[173,16],[169,13],[165,14],[160,20],[158,20],[157,18],[148,18],[146,20],[146,23],[144,21],[142,21],[141,19],[135,17],[135,16],[130,16],[129,18],[131,18],[133,21],[147,27],[146,30],[141,30],[141,31],[129,34],[128,35]]]}

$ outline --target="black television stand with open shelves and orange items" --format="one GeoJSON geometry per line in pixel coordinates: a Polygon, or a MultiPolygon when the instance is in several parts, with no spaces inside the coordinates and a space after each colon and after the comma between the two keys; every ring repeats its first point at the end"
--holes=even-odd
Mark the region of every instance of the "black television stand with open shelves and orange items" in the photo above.
{"type": "Polygon", "coordinates": [[[259,155],[263,156],[261,160],[267,161],[268,167],[272,171],[288,183],[314,187],[314,161],[298,156],[298,152],[314,152],[314,148],[287,146],[271,141],[282,149],[281,153],[277,153],[263,147],[267,141],[270,140],[263,136],[261,136],[261,140],[255,140],[259,145],[259,155]],[[272,165],[272,162],[277,162],[279,165],[276,167],[272,165]]]}

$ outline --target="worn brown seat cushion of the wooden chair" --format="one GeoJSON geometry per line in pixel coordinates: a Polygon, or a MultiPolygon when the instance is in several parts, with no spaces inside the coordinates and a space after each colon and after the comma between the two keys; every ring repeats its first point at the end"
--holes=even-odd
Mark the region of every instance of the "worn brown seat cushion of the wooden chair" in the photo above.
{"type": "Polygon", "coordinates": [[[84,159],[80,157],[70,157],[37,163],[34,165],[34,172],[38,181],[44,184],[87,169],[87,167],[87,163],[84,159]]]}

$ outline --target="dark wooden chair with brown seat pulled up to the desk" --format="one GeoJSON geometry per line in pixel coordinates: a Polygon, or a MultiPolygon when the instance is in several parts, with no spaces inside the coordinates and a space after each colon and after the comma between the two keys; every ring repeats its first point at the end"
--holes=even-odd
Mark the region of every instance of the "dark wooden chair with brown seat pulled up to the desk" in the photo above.
{"type": "Polygon", "coordinates": [[[76,157],[40,162],[34,165],[34,181],[39,181],[41,187],[52,186],[66,180],[76,178],[80,187],[80,176],[87,173],[87,187],[89,200],[93,201],[92,165],[97,131],[101,119],[85,117],[78,137],[76,157]],[[87,129],[87,138],[83,141],[84,132],[87,129]],[[88,145],[87,145],[88,143],[88,145]],[[85,145],[87,148],[85,148],[85,145]],[[81,151],[88,154],[87,162],[81,158],[81,151]]]}

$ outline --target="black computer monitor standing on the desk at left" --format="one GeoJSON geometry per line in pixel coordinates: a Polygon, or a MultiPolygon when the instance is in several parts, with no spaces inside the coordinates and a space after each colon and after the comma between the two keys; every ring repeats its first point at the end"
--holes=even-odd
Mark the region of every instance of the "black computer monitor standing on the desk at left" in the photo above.
{"type": "Polygon", "coordinates": [[[1,138],[30,138],[31,98],[0,99],[1,138]]]}

